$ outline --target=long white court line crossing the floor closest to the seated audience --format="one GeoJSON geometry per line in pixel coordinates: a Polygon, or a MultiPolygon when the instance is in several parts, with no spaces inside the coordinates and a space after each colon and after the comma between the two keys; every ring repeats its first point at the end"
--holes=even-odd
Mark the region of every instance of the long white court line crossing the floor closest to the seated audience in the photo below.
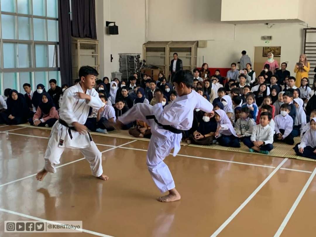
{"type": "MultiPolygon", "coordinates": [[[[33,135],[26,135],[26,134],[20,134],[20,133],[13,133],[13,132],[5,132],[7,134],[13,134],[13,135],[20,135],[20,136],[26,136],[26,137],[37,137],[37,138],[44,138],[48,139],[48,137],[39,137],[39,136],[33,136],[33,135]]],[[[108,147],[115,147],[112,145],[105,145],[105,144],[99,144],[96,143],[96,145],[99,146],[108,146],[108,147]]],[[[137,148],[130,148],[130,147],[120,147],[121,149],[130,149],[130,150],[138,150],[138,151],[147,151],[145,149],[137,149],[137,148]]],[[[170,155],[173,155],[170,153],[170,155]]],[[[196,159],[204,159],[204,160],[210,160],[210,161],[221,161],[221,162],[228,162],[228,163],[235,163],[240,165],[250,165],[250,166],[259,166],[259,167],[266,167],[266,168],[275,168],[275,166],[267,166],[267,165],[257,165],[252,163],[244,163],[244,162],[237,162],[237,161],[226,161],[226,160],[219,160],[219,159],[212,159],[212,158],[205,158],[205,157],[198,157],[198,156],[191,156],[191,155],[177,155],[177,156],[184,156],[184,157],[190,157],[190,158],[196,158],[196,159]]],[[[288,168],[280,168],[283,170],[290,170],[290,171],[297,171],[297,172],[304,172],[304,173],[312,173],[311,171],[305,171],[305,170],[298,170],[298,169],[288,169],[288,168]]],[[[33,175],[32,175],[33,176],[33,175]]],[[[30,177],[32,177],[30,176],[30,177]]],[[[1,185],[0,185],[1,187],[1,185]]]]}

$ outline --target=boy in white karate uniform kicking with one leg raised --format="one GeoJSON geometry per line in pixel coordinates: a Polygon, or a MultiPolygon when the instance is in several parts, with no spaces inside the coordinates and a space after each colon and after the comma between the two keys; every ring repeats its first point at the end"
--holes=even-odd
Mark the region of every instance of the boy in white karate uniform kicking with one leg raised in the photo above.
{"type": "Polygon", "coordinates": [[[173,202],[181,198],[163,160],[173,148],[173,156],[178,154],[182,130],[189,130],[192,126],[193,110],[200,109],[210,113],[211,117],[214,116],[212,104],[191,90],[193,76],[190,71],[178,71],[173,78],[173,84],[179,96],[172,104],[162,108],[163,94],[157,94],[158,104],[151,106],[137,103],[116,122],[117,128],[136,119],[150,125],[152,136],[147,152],[147,167],[158,189],[162,193],[169,191],[168,195],[157,198],[161,202],[173,202]]]}

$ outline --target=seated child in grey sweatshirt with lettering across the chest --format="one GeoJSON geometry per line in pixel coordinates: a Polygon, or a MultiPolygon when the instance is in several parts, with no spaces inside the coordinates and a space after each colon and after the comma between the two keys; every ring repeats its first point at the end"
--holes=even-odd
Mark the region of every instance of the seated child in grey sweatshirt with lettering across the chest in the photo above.
{"type": "Polygon", "coordinates": [[[254,123],[251,119],[250,109],[243,107],[241,109],[240,118],[237,119],[234,127],[237,137],[239,137],[240,140],[243,140],[245,137],[250,138],[253,126],[254,123]]]}

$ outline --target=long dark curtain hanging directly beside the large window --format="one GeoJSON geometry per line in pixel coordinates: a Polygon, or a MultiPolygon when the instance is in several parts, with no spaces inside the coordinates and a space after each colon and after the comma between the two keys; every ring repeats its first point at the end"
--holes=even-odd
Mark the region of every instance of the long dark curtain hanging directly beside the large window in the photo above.
{"type": "Polygon", "coordinates": [[[72,85],[70,51],[70,4],[69,0],[58,0],[59,64],[61,84],[72,85]]]}

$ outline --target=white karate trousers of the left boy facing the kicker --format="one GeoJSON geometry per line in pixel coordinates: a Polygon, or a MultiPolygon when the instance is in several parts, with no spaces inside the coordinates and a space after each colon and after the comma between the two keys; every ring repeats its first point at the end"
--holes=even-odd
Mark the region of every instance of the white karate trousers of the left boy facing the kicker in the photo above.
{"type": "MultiPolygon", "coordinates": [[[[67,135],[68,136],[68,135],[67,135]]],[[[50,173],[56,173],[55,166],[60,162],[60,156],[63,154],[65,147],[59,147],[58,139],[58,129],[57,127],[52,128],[52,132],[48,141],[47,149],[44,155],[45,159],[45,170],[50,173]]],[[[95,177],[99,177],[103,173],[102,169],[102,154],[92,141],[91,146],[87,148],[77,148],[80,149],[84,158],[89,162],[92,174],[95,177]]]]}

